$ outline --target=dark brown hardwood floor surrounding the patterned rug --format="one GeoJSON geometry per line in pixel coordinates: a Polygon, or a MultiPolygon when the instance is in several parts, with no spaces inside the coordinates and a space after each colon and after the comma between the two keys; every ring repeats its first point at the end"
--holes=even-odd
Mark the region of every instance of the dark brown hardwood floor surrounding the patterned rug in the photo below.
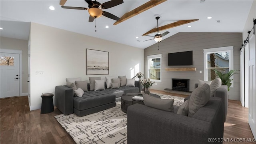
{"type": "MultiPolygon", "coordinates": [[[[183,94],[150,91],[186,97],[183,94]]],[[[0,143],[74,144],[71,136],[55,120],[54,116],[58,114],[62,113],[57,108],[49,114],[40,114],[40,110],[30,111],[27,96],[0,99],[0,143]]],[[[248,108],[242,107],[239,101],[229,100],[227,120],[224,123],[224,139],[227,138],[229,141],[233,138],[233,142],[224,144],[255,144],[246,142],[247,138],[252,140],[253,136],[248,124],[248,108]]]]}

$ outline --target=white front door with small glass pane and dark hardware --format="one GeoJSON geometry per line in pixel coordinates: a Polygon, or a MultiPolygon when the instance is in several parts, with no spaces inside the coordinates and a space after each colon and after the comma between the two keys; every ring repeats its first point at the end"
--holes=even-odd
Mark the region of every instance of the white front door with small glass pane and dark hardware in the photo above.
{"type": "Polygon", "coordinates": [[[19,96],[19,54],[0,53],[0,98],[19,96]]]}

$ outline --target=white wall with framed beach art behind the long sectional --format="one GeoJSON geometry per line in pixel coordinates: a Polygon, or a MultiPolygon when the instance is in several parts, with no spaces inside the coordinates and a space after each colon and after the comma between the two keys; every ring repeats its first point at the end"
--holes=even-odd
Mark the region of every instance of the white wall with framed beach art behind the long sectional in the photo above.
{"type": "Polygon", "coordinates": [[[92,77],[132,78],[134,68],[136,72],[144,72],[144,49],[41,24],[31,23],[30,46],[30,110],[39,109],[42,92],[54,92],[55,86],[66,84],[65,78],[88,80],[86,48],[109,52],[109,75],[92,77]],[[43,71],[44,75],[36,75],[36,71],[43,71]]]}

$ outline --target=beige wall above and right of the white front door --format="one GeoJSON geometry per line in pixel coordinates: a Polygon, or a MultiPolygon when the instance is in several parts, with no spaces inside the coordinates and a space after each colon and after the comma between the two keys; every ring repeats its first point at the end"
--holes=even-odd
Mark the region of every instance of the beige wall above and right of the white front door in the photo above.
{"type": "Polygon", "coordinates": [[[2,49],[22,50],[22,95],[28,93],[28,40],[1,37],[2,49]]]}

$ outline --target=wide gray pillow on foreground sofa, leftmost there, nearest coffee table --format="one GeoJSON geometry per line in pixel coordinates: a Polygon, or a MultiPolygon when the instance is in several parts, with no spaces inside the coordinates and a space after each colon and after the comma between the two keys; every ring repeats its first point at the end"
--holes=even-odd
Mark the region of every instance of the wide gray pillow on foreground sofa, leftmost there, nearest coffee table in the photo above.
{"type": "Polygon", "coordinates": [[[168,112],[174,112],[173,102],[174,99],[161,99],[148,94],[142,94],[145,106],[165,110],[168,112]]]}

